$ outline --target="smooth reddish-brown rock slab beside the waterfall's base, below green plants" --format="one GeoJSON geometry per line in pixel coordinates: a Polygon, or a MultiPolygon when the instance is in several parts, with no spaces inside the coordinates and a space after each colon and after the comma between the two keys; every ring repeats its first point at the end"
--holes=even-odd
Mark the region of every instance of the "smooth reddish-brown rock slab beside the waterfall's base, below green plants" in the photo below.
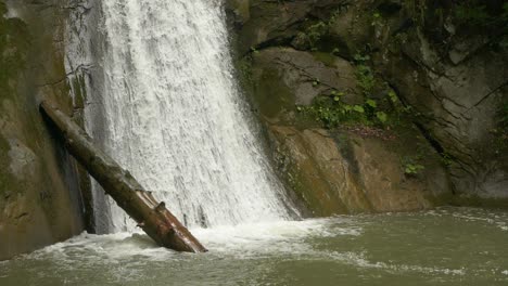
{"type": "Polygon", "coordinates": [[[410,152],[393,148],[396,141],[287,126],[270,131],[282,177],[314,216],[419,210],[445,199],[444,169],[406,176],[399,156],[410,152]]]}

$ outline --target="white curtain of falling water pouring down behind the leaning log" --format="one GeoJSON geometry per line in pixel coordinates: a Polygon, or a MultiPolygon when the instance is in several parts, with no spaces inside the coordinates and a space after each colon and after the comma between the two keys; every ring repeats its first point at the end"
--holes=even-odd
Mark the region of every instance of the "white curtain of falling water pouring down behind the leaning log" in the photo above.
{"type": "MultiPolygon", "coordinates": [[[[102,82],[102,94],[86,109],[89,132],[100,133],[105,151],[190,226],[289,218],[242,110],[221,2],[101,3],[103,78],[92,81],[102,82]]],[[[131,230],[94,188],[99,232],[131,230]]]]}

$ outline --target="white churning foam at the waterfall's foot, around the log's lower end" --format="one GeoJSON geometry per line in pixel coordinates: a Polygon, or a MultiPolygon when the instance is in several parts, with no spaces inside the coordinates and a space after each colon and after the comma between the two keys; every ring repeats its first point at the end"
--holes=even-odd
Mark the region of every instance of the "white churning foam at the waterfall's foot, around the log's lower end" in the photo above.
{"type": "MultiPolygon", "coordinates": [[[[331,227],[340,223],[338,219],[306,221],[280,221],[271,223],[250,223],[237,226],[214,229],[192,229],[191,232],[209,250],[207,255],[232,256],[236,258],[270,256],[294,256],[318,253],[306,243],[313,237],[357,236],[357,226],[331,227]]],[[[318,253],[320,256],[320,253],[318,253]]],[[[31,258],[58,260],[90,259],[100,257],[107,261],[118,261],[136,256],[148,260],[181,259],[178,253],[156,246],[141,233],[115,233],[94,235],[82,233],[66,242],[46,247],[29,255],[31,258]],[[73,253],[79,253],[74,257],[73,253]]]]}

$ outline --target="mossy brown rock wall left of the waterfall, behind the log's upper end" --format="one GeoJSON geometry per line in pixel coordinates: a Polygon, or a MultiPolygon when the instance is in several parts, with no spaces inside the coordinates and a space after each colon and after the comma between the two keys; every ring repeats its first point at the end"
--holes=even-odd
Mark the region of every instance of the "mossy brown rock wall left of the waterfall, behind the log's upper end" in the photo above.
{"type": "Polygon", "coordinates": [[[37,104],[52,96],[72,109],[60,4],[0,1],[0,260],[82,230],[75,164],[37,104]]]}

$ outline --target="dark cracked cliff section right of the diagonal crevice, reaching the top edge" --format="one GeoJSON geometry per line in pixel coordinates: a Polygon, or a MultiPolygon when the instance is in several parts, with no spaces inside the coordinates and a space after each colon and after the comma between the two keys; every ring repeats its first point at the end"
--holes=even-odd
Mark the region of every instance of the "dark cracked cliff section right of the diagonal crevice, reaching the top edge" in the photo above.
{"type": "MultiPolygon", "coordinates": [[[[338,18],[370,13],[371,26],[339,21],[331,34],[353,47],[350,53],[369,44],[373,68],[414,108],[415,122],[447,159],[457,195],[508,198],[506,130],[499,126],[508,102],[506,20],[483,27],[473,18],[460,24],[457,5],[360,2],[338,18]]],[[[469,2],[470,9],[481,6],[469,2]]],[[[503,17],[496,14],[501,1],[488,5],[492,17],[503,17]]]]}

